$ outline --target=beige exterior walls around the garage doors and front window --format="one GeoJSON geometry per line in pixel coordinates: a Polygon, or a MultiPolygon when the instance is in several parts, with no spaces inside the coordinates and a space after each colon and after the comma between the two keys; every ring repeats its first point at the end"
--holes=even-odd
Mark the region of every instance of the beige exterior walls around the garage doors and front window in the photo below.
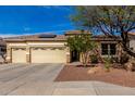
{"type": "MultiPolygon", "coordinates": [[[[116,43],[116,41],[98,41],[98,52],[101,55],[101,43],[116,43]]],[[[30,48],[34,47],[65,47],[65,42],[36,42],[36,41],[30,41],[30,42],[8,42],[7,43],[7,61],[12,62],[12,48],[26,48],[26,62],[30,63],[30,48]]],[[[135,47],[135,41],[131,41],[131,46],[135,47]]],[[[116,55],[121,55],[121,47],[116,46],[116,55]]],[[[81,54],[79,54],[81,55],[81,54]]],[[[105,55],[101,55],[105,56],[105,55]]],[[[82,62],[82,58],[79,56],[79,61],[82,62]]],[[[71,61],[71,52],[70,48],[66,47],[66,63],[70,63],[71,61]]]]}

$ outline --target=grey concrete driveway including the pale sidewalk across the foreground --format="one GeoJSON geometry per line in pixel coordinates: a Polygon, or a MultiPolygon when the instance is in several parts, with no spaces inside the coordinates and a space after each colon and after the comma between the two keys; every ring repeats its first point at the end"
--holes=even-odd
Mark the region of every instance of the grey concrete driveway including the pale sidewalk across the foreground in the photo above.
{"type": "Polygon", "coordinates": [[[135,94],[134,88],[100,81],[54,83],[64,64],[0,65],[0,94],[14,96],[96,96],[135,94]]]}

